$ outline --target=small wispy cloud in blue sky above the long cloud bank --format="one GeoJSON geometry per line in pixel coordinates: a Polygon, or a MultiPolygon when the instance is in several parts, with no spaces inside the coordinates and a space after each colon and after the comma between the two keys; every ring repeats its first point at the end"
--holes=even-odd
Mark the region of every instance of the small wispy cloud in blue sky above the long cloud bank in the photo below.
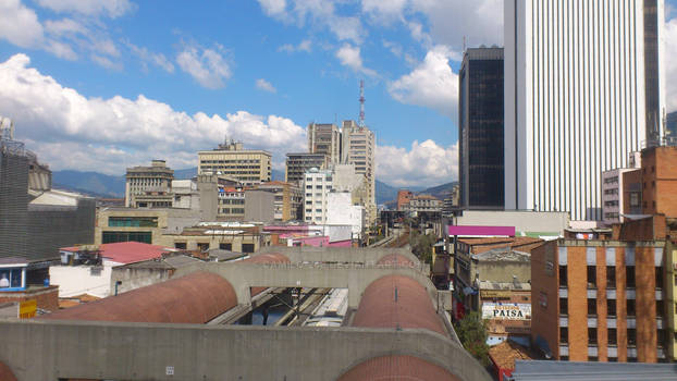
{"type": "Polygon", "coordinates": [[[199,46],[186,46],[176,57],[176,63],[190,74],[202,87],[217,89],[225,86],[231,77],[231,67],[222,56],[223,48],[204,49],[199,46]]]}

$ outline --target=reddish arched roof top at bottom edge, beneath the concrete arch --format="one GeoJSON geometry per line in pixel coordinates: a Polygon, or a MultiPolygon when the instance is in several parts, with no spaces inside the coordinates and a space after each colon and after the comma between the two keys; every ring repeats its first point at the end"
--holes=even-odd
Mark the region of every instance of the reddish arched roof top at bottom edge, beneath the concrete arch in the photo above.
{"type": "Polygon", "coordinates": [[[374,357],[361,362],[338,378],[338,381],[460,381],[446,369],[406,355],[374,357]]]}

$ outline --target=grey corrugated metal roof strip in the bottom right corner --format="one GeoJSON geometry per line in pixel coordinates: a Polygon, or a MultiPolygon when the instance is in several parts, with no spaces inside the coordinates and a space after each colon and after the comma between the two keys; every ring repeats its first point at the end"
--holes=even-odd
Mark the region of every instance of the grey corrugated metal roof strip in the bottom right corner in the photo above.
{"type": "Polygon", "coordinates": [[[576,362],[517,360],[512,380],[576,380],[576,381],[674,381],[677,366],[647,362],[576,362]]]}

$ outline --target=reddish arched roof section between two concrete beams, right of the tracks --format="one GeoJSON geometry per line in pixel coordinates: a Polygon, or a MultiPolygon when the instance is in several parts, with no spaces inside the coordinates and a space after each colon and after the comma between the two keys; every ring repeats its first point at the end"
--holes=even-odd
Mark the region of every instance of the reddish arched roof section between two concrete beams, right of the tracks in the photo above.
{"type": "Polygon", "coordinates": [[[422,328],[447,335],[426,287],[405,275],[387,275],[371,282],[355,311],[353,325],[422,328]]]}

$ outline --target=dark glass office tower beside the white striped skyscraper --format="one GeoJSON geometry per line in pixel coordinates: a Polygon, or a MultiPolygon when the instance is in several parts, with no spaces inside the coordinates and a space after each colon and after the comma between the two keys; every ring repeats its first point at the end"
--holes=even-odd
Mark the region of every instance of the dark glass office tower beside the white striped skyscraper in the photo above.
{"type": "Polygon", "coordinates": [[[460,206],[503,208],[503,48],[466,50],[460,65],[460,206]]]}

